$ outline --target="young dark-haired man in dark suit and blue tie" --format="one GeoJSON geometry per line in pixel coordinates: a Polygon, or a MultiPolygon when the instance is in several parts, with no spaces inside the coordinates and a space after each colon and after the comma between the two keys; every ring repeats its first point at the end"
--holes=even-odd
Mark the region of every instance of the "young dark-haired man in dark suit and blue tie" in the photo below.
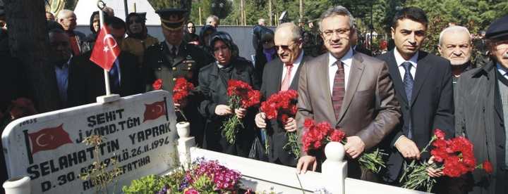
{"type": "MultiPolygon", "coordinates": [[[[447,136],[453,134],[451,68],[448,60],[420,50],[427,25],[423,10],[403,8],[392,23],[396,48],[379,57],[388,63],[403,118],[384,144],[389,152],[388,171],[384,174],[387,183],[398,181],[404,160],[421,158],[421,149],[434,129],[442,129],[447,136]]],[[[442,175],[435,170],[429,174],[442,175]]]]}

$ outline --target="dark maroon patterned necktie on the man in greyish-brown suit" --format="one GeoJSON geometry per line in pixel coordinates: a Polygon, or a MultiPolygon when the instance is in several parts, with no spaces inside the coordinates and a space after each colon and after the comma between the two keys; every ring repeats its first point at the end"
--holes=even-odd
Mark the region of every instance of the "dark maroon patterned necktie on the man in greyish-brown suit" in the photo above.
{"type": "Polygon", "coordinates": [[[344,101],[344,95],[346,93],[345,80],[344,80],[344,63],[340,60],[335,62],[337,72],[335,72],[334,85],[332,89],[332,105],[334,107],[335,118],[339,119],[342,102],[344,101]]]}

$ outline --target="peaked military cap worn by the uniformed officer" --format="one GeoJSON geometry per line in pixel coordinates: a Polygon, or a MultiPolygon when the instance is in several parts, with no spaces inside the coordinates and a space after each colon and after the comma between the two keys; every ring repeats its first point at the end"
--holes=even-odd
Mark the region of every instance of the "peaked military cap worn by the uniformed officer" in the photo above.
{"type": "Polygon", "coordinates": [[[187,11],[181,8],[164,8],[155,13],[159,14],[162,27],[167,30],[180,30],[187,19],[187,11]]]}

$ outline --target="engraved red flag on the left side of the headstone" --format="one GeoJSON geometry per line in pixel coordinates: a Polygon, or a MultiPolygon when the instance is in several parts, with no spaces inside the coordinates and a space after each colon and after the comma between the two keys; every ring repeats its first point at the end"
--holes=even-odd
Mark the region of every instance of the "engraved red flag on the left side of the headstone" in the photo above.
{"type": "Polygon", "coordinates": [[[28,134],[32,142],[32,155],[39,151],[54,150],[66,143],[73,143],[68,133],[63,130],[63,124],[58,127],[41,129],[28,134]]]}

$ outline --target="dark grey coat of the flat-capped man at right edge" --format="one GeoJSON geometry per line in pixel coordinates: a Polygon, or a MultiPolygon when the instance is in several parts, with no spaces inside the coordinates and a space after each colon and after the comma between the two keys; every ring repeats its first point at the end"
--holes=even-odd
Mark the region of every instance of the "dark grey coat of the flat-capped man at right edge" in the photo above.
{"type": "MultiPolygon", "coordinates": [[[[469,193],[507,193],[508,169],[505,130],[495,63],[464,72],[457,82],[456,136],[466,136],[474,148],[476,162],[492,162],[492,175],[477,169],[466,176],[464,189],[469,193]]],[[[504,82],[507,82],[504,79],[504,82]]]]}

